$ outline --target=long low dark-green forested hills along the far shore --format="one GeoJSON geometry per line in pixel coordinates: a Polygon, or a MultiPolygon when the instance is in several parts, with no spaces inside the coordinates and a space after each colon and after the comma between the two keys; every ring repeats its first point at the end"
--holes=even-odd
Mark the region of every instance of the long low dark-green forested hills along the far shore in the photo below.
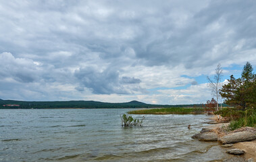
{"type": "MultiPolygon", "coordinates": [[[[61,109],[61,108],[153,108],[193,107],[195,105],[151,105],[139,101],[128,103],[103,103],[99,101],[14,101],[1,100],[0,109],[61,109]]],[[[199,106],[199,105],[198,105],[199,106]]]]}

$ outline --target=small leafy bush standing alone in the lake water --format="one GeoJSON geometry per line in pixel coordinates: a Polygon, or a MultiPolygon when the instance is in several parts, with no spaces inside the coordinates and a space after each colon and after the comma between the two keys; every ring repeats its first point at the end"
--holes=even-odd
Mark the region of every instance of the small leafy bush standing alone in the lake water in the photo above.
{"type": "Polygon", "coordinates": [[[122,120],[122,126],[124,127],[131,127],[131,126],[142,126],[143,120],[145,117],[143,116],[143,119],[134,119],[130,115],[126,115],[125,113],[123,115],[120,115],[122,120]]]}

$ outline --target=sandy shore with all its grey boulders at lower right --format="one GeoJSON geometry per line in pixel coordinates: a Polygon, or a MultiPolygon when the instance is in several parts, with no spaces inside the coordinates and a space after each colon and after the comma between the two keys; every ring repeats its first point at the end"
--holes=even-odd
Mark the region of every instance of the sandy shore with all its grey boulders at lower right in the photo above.
{"type": "MultiPolygon", "coordinates": [[[[215,117],[213,117],[215,119],[215,117]]],[[[248,161],[256,162],[256,128],[240,128],[228,131],[229,123],[219,123],[220,121],[209,121],[209,126],[202,128],[199,134],[192,138],[201,141],[216,141],[225,148],[226,153],[234,155],[224,161],[248,161]]]]}

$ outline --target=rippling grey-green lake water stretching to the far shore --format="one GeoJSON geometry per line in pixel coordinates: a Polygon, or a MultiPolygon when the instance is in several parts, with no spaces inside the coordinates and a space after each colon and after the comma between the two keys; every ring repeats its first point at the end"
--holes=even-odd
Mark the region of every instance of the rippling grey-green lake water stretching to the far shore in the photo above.
{"type": "Polygon", "coordinates": [[[203,124],[209,120],[207,115],[145,115],[143,127],[122,128],[120,115],[128,110],[0,109],[0,161],[212,161],[224,157],[216,142],[190,138],[207,125],[203,124]]]}

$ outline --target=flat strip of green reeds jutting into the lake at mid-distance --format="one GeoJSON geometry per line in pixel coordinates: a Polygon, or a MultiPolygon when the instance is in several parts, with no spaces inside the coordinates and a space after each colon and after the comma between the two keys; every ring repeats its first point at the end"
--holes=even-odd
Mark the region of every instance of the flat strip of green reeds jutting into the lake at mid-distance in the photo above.
{"type": "Polygon", "coordinates": [[[165,114],[202,114],[202,108],[182,108],[182,107],[172,107],[172,108],[162,108],[162,109],[139,109],[134,111],[128,111],[129,114],[155,114],[155,115],[165,115],[165,114]]]}

